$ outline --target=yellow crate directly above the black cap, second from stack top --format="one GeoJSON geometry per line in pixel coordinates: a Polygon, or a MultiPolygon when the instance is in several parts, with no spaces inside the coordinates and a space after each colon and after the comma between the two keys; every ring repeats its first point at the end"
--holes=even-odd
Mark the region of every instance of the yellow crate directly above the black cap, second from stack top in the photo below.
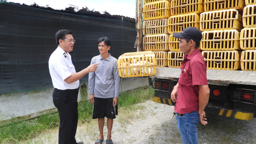
{"type": "Polygon", "coordinates": [[[198,14],[174,15],[168,18],[168,32],[181,32],[186,27],[197,27],[199,29],[200,16],[198,14]]]}

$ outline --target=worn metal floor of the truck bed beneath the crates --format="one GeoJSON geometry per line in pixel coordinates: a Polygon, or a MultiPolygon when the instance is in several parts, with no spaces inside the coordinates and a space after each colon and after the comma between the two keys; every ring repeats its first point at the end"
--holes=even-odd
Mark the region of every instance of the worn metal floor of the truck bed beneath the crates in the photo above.
{"type": "MultiPolygon", "coordinates": [[[[178,80],[180,73],[180,68],[157,67],[155,75],[148,77],[178,80]]],[[[214,85],[227,86],[230,83],[256,85],[256,71],[207,69],[207,79],[208,84],[214,85]]]]}

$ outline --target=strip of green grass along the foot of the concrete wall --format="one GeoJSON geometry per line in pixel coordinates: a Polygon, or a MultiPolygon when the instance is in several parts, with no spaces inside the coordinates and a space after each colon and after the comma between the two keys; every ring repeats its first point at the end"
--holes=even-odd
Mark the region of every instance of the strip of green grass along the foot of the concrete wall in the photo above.
{"type": "MultiPolygon", "coordinates": [[[[122,92],[118,98],[118,108],[123,111],[136,109],[133,105],[152,99],[154,89],[146,86],[133,91],[122,92]]],[[[92,120],[93,105],[89,100],[78,103],[78,123],[90,123],[92,120]]],[[[55,129],[59,126],[58,112],[52,114],[44,114],[32,120],[16,120],[11,123],[4,124],[0,127],[0,143],[1,144],[18,144],[21,141],[27,141],[35,136],[40,135],[46,130],[55,129]]]]}

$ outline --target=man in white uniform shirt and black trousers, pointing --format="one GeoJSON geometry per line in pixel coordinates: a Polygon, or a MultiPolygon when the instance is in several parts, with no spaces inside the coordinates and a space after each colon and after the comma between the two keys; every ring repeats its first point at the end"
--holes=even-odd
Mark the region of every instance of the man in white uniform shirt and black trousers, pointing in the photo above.
{"type": "Polygon", "coordinates": [[[52,77],[53,103],[59,112],[59,144],[83,144],[76,142],[78,123],[79,79],[85,74],[96,71],[98,64],[93,64],[76,73],[69,52],[73,50],[75,39],[70,30],[59,30],[56,34],[57,49],[49,59],[49,71],[52,77]]]}

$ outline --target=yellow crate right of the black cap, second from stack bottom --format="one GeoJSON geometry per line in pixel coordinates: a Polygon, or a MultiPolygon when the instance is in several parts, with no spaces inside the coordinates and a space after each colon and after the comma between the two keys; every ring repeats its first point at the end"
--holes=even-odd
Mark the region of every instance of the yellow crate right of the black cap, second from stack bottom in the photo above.
{"type": "Polygon", "coordinates": [[[235,30],[212,30],[202,32],[201,50],[240,50],[240,33],[235,30]]]}

